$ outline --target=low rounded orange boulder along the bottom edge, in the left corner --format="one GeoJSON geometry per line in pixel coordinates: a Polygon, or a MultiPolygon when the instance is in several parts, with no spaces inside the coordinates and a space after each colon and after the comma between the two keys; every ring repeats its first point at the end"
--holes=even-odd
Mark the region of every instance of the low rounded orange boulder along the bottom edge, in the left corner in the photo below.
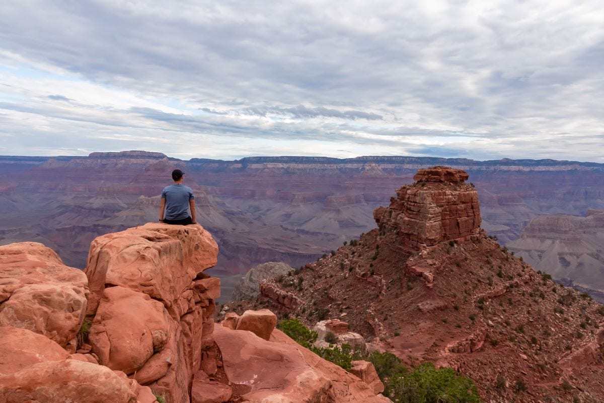
{"type": "Polygon", "coordinates": [[[108,367],[68,359],[0,376],[0,402],[137,403],[137,396],[108,367]]]}

